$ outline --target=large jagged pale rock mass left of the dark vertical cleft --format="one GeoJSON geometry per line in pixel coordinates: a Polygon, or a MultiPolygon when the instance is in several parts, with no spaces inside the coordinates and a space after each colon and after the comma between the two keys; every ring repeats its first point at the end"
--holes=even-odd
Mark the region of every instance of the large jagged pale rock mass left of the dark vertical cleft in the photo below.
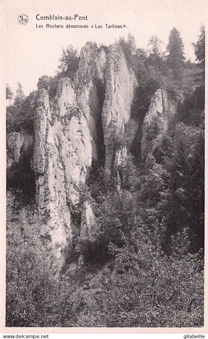
{"type": "MultiPolygon", "coordinates": [[[[34,169],[41,236],[60,261],[73,238],[71,213],[79,203],[80,184],[99,157],[104,65],[105,52],[86,45],[74,81],[62,78],[50,101],[43,89],[37,96],[34,169]]],[[[88,218],[89,206],[83,211],[88,218]]]]}

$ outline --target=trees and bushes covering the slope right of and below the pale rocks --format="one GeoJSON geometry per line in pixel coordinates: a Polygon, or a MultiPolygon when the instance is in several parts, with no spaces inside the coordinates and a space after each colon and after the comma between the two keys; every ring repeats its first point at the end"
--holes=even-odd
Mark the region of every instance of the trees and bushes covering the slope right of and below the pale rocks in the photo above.
{"type": "Polygon", "coordinates": [[[92,168],[82,187],[82,199],[91,199],[98,224],[95,241],[82,244],[84,267],[74,264],[77,242],[55,277],[42,260],[35,206],[23,206],[21,192],[8,190],[7,326],[203,326],[203,29],[194,44],[201,64],[184,62],[176,29],[167,58],[156,37],[149,52],[136,48],[132,36],[120,39],[139,82],[125,138],[112,140],[112,147],[127,146],[128,158],[119,169],[120,195],[102,166],[92,168]],[[167,90],[177,114],[141,163],[136,129],[158,88],[167,90]]]}

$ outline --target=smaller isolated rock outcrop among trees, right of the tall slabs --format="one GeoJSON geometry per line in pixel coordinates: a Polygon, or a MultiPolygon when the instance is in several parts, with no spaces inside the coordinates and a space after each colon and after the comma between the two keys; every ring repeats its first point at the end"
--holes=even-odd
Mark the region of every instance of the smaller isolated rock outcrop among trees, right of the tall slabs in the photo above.
{"type": "Polygon", "coordinates": [[[175,108],[168,100],[166,91],[158,89],[151,99],[149,110],[142,125],[142,160],[160,144],[162,135],[168,128],[168,123],[174,113],[175,108]]]}

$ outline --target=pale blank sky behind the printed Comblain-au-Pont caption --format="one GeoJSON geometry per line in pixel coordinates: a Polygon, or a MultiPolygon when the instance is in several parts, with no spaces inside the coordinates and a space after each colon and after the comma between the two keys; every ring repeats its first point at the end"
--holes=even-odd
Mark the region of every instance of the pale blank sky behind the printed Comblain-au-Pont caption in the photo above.
{"type": "Polygon", "coordinates": [[[120,36],[127,37],[129,32],[134,35],[137,47],[142,48],[156,35],[163,41],[164,51],[169,33],[176,27],[181,33],[186,58],[194,61],[191,42],[197,41],[207,11],[207,2],[202,0],[4,0],[3,5],[4,76],[13,92],[19,81],[26,95],[37,89],[39,77],[55,75],[62,47],[72,44],[80,51],[87,41],[109,45],[120,36]],[[20,14],[28,16],[28,24],[18,23],[20,14]],[[42,21],[36,19],[37,14],[87,15],[87,20],[42,21]],[[63,24],[64,28],[46,28],[47,23],[63,24]],[[89,28],[66,28],[67,23],[87,24],[89,28]],[[95,28],[95,24],[103,28],[95,28]],[[105,24],[125,27],[105,28],[105,24]]]}

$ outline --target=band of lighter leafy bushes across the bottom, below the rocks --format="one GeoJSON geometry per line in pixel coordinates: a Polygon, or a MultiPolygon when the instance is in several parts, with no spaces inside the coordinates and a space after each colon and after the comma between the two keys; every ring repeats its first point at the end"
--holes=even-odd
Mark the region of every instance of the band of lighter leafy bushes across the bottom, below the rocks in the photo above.
{"type": "Polygon", "coordinates": [[[174,253],[166,256],[138,214],[127,227],[125,220],[135,217],[132,195],[111,198],[102,221],[110,260],[96,271],[89,265],[55,278],[40,251],[31,208],[17,212],[14,197],[7,196],[12,212],[7,223],[7,326],[203,325],[203,257],[187,251],[186,230],[172,237],[174,253]],[[117,237],[116,243],[112,236],[106,238],[109,226],[118,232],[112,224],[116,208],[116,225],[123,223],[122,244],[117,237]],[[24,224],[21,213],[26,213],[24,224]]]}

